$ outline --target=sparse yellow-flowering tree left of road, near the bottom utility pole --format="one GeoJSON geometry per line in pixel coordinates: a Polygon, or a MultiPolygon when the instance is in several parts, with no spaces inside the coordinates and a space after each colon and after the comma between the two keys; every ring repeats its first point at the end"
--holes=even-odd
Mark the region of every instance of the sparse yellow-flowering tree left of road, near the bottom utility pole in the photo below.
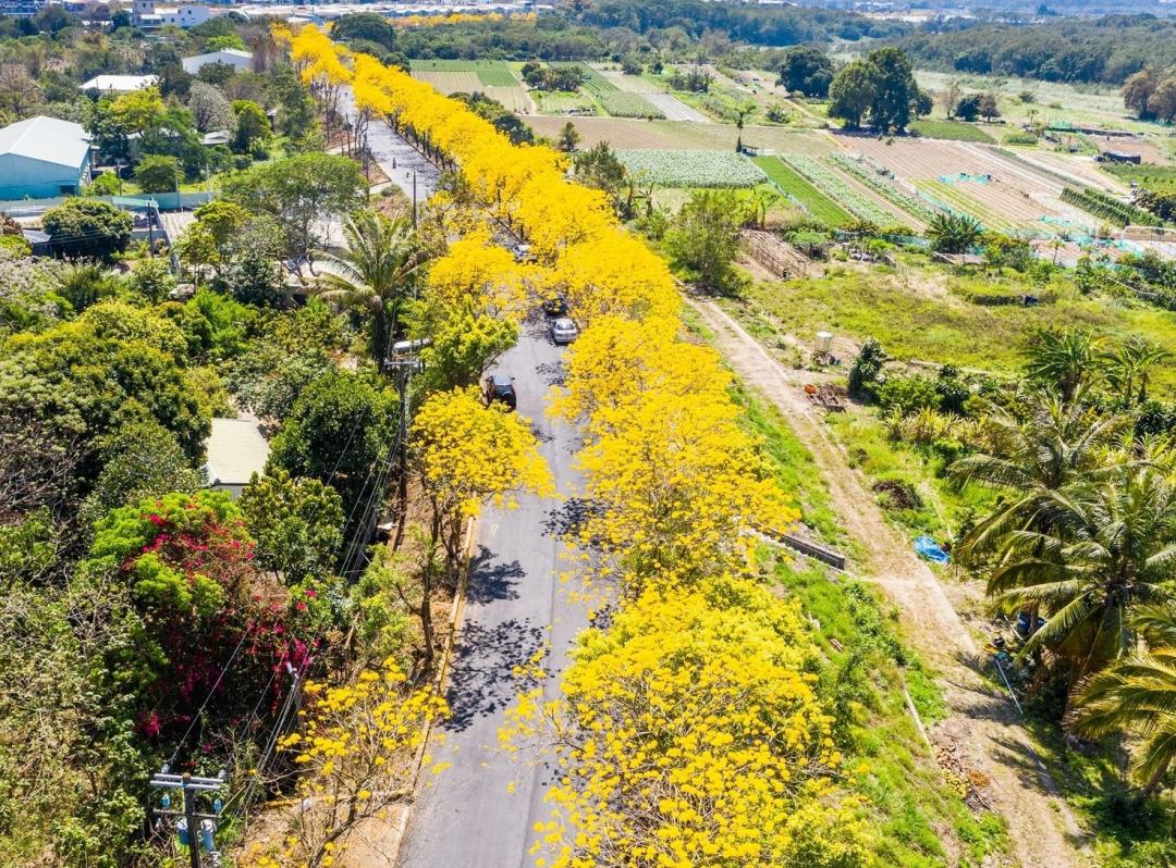
{"type": "Polygon", "coordinates": [[[425,725],[447,713],[432,686],[408,685],[390,658],[352,685],[309,682],[305,693],[303,727],[280,742],[305,769],[301,803],[283,847],[256,857],[255,868],[332,866],[350,830],[412,796],[425,725]]]}

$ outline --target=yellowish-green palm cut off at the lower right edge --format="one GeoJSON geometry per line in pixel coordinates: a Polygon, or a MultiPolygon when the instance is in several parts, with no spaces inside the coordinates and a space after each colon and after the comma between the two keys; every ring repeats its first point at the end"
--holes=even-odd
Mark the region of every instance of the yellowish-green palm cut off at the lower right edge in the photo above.
{"type": "Polygon", "coordinates": [[[1150,795],[1176,759],[1176,610],[1144,608],[1132,626],[1145,650],[1083,685],[1069,728],[1093,738],[1136,735],[1131,773],[1150,795]]]}

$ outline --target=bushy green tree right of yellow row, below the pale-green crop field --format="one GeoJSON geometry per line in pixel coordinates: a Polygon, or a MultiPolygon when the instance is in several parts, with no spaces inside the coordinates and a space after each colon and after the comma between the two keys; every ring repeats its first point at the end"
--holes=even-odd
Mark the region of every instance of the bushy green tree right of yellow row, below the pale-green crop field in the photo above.
{"type": "Polygon", "coordinates": [[[726,290],[746,220],[744,203],[730,190],[693,193],[666,234],[671,262],[695,275],[702,287],[726,290]]]}

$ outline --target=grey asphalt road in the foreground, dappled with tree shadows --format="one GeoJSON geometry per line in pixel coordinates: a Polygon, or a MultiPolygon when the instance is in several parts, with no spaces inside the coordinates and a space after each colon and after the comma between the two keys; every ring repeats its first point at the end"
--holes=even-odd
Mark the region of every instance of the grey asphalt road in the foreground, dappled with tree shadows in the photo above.
{"type": "MultiPolygon", "coordinates": [[[[453,716],[434,729],[433,763],[452,762],[437,775],[421,775],[416,806],[401,848],[406,868],[521,868],[534,864],[527,850],[535,822],[549,819],[543,795],[550,776],[536,762],[520,761],[499,745],[506,709],[528,685],[513,674],[544,644],[550,650],[546,685],[567,662],[572,640],[587,624],[586,605],[573,601],[559,580],[573,564],[560,541],[574,517],[579,478],[572,467],[575,430],[544,415],[544,395],[562,376],[563,348],[536,316],[495,372],[515,378],[521,416],[532,420],[540,452],[564,498],[524,496],[515,510],[487,510],[479,522],[465,617],[447,689],[453,716]]],[[[494,456],[486,456],[494,460],[494,456]]]]}

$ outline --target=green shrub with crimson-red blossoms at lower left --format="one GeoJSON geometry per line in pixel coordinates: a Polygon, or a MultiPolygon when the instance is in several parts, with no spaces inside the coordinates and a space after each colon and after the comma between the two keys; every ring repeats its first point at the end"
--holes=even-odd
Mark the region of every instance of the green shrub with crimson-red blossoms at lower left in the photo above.
{"type": "Polygon", "coordinates": [[[319,590],[282,587],[255,566],[254,543],[226,492],[114,510],[95,527],[85,566],[128,585],[136,641],[109,661],[109,677],[129,688],[149,739],[182,733],[209,692],[209,716],[230,726],[250,718],[259,697],[262,715],[276,708],[289,671],[306,662],[330,618],[319,590]]]}

